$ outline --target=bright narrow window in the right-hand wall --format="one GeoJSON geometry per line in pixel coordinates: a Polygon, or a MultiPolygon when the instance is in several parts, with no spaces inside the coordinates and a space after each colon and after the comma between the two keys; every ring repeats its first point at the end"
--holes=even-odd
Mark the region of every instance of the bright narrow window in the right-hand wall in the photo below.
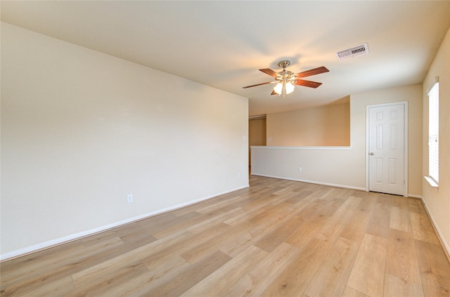
{"type": "MultiPolygon", "coordinates": [[[[439,82],[428,92],[428,176],[439,183],[439,82]]],[[[429,180],[430,181],[430,180],[429,180]]]]}

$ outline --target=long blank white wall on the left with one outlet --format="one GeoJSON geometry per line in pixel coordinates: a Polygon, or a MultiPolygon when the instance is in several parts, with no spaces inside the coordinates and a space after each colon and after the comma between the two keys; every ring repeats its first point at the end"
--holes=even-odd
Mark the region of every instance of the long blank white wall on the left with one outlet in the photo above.
{"type": "Polygon", "coordinates": [[[247,187],[247,134],[247,98],[2,22],[1,257],[247,187]]]}

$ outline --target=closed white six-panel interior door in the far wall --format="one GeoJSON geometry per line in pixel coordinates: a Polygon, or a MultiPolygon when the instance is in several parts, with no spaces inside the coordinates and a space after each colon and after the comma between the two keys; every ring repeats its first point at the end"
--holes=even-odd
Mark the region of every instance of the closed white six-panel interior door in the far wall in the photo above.
{"type": "Polygon", "coordinates": [[[405,104],[368,107],[368,190],[406,194],[405,104]]]}

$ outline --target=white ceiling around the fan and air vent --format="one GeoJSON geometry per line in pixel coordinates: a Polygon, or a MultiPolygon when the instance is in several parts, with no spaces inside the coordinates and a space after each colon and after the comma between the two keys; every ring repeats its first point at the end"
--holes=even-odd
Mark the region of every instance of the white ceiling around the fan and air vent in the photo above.
{"type": "Polygon", "coordinates": [[[450,1],[1,1],[1,20],[250,99],[250,115],[420,84],[450,1]],[[368,55],[335,52],[368,42],[368,55]],[[326,66],[282,98],[261,68],[326,66]]]}

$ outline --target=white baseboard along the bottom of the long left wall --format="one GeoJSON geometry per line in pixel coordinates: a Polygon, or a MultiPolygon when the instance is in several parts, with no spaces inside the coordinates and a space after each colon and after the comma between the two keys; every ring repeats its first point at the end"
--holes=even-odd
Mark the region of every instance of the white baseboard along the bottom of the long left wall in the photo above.
{"type": "Polygon", "coordinates": [[[141,216],[135,216],[133,218],[127,218],[126,220],[120,220],[120,221],[115,222],[115,223],[111,223],[111,224],[104,225],[104,226],[101,226],[101,227],[97,227],[97,228],[94,228],[94,229],[78,232],[78,233],[75,233],[75,234],[72,234],[72,235],[68,235],[68,236],[65,236],[65,237],[52,239],[52,240],[49,240],[47,242],[41,242],[39,244],[33,244],[32,246],[27,246],[27,247],[25,247],[23,249],[18,249],[18,250],[11,251],[11,252],[8,252],[8,253],[2,253],[0,255],[0,260],[3,261],[3,260],[11,259],[11,258],[16,258],[18,256],[25,256],[28,253],[34,253],[34,252],[37,252],[37,251],[40,251],[40,250],[43,250],[43,249],[49,249],[52,246],[58,246],[60,244],[65,244],[67,242],[72,242],[73,240],[76,240],[76,239],[81,239],[83,237],[94,235],[94,234],[96,234],[98,232],[103,232],[105,230],[113,229],[113,228],[119,227],[121,225],[133,223],[136,220],[142,220],[143,218],[148,218],[150,216],[156,216],[158,214],[165,213],[167,211],[174,211],[175,209],[181,209],[184,206],[188,206],[188,205],[191,205],[191,204],[196,204],[198,202],[202,202],[202,201],[207,200],[207,199],[212,199],[214,197],[217,197],[217,196],[220,196],[220,195],[223,195],[223,194],[228,194],[228,193],[231,193],[231,192],[235,192],[237,190],[242,190],[242,189],[245,189],[246,187],[250,187],[250,185],[245,185],[243,187],[238,187],[236,189],[229,190],[229,191],[226,191],[226,192],[221,192],[221,193],[213,194],[213,195],[210,195],[210,196],[207,196],[207,197],[203,197],[203,198],[200,198],[200,199],[195,199],[195,200],[192,200],[190,202],[177,204],[177,205],[174,205],[174,206],[169,206],[169,207],[167,207],[165,209],[159,209],[158,211],[152,211],[150,213],[144,213],[141,216]]]}

